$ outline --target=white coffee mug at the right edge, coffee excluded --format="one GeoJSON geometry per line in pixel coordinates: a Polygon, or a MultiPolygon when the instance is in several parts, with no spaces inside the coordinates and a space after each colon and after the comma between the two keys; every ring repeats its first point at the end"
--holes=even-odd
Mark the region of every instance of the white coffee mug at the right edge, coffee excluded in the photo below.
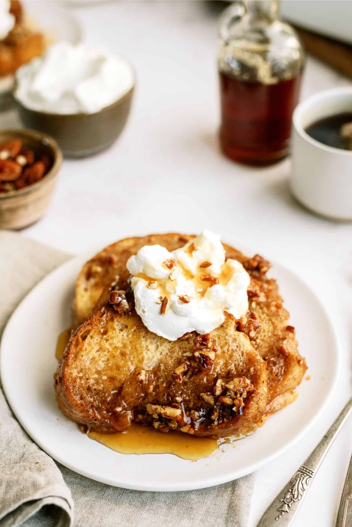
{"type": "Polygon", "coordinates": [[[352,112],[352,87],[317,93],[294,110],[290,187],[308,209],[352,220],[352,151],[328,147],[305,131],[319,119],[344,112],[352,112]]]}

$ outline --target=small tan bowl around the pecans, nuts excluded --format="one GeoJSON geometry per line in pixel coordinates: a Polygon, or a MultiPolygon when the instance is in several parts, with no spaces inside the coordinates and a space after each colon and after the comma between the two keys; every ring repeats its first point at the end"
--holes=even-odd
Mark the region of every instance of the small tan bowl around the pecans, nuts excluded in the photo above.
{"type": "Polygon", "coordinates": [[[49,207],[61,167],[62,153],[56,141],[35,130],[0,131],[0,143],[20,138],[25,148],[46,154],[52,167],[43,178],[20,190],[0,194],[0,228],[22,229],[39,220],[49,207]]]}

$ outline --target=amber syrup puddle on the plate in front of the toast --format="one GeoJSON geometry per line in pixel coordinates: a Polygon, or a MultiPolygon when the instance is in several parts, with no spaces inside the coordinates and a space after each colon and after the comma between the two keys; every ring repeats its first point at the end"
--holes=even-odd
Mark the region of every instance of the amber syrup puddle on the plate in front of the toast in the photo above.
{"type": "Polygon", "coordinates": [[[170,430],[157,432],[153,427],[132,423],[126,432],[104,434],[89,431],[88,436],[121,454],[174,454],[185,460],[210,456],[218,448],[215,439],[190,437],[170,430]]]}

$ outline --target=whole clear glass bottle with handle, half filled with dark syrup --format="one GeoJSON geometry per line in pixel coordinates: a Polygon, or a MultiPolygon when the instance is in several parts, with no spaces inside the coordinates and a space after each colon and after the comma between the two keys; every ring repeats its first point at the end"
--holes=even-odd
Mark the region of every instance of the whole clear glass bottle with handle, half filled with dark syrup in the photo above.
{"type": "Polygon", "coordinates": [[[219,20],[220,143],[228,158],[246,164],[269,164],[289,151],[304,52],[293,28],[280,21],[279,6],[239,0],[219,20]]]}

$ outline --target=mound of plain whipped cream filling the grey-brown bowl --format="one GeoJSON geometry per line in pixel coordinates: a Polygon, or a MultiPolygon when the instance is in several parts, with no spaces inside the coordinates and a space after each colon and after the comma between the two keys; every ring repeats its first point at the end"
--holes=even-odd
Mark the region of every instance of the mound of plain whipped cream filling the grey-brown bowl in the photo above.
{"type": "Polygon", "coordinates": [[[131,66],[102,48],[58,42],[17,70],[16,99],[50,113],[94,113],[134,85],[131,66]]]}

